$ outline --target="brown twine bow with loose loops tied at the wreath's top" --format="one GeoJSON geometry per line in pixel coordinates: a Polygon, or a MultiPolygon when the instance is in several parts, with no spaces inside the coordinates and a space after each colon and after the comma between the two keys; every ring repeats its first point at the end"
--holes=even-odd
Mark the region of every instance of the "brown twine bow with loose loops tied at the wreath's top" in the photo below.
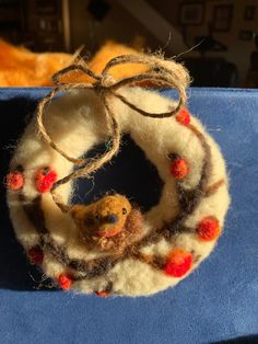
{"type": "Polygon", "coordinates": [[[52,81],[55,88],[50,91],[38,104],[37,107],[37,127],[39,134],[46,140],[48,145],[52,149],[55,149],[59,154],[61,154],[64,159],[72,162],[74,165],[79,167],[69,175],[58,180],[54,183],[51,187],[51,195],[54,202],[57,206],[63,211],[68,213],[71,209],[71,206],[63,204],[60,200],[60,197],[56,194],[56,190],[58,186],[70,182],[71,180],[75,180],[82,176],[90,176],[91,173],[95,172],[99,168],[102,168],[106,162],[108,162],[115,154],[119,151],[120,146],[120,128],[118,122],[116,121],[116,115],[114,110],[110,106],[112,98],[119,99],[122,103],[128,105],[131,110],[136,111],[138,114],[144,117],[151,118],[167,118],[174,116],[181,107],[186,105],[187,96],[186,96],[186,88],[189,84],[189,74],[188,71],[179,64],[176,64],[172,60],[165,60],[162,57],[157,56],[137,56],[137,55],[122,55],[113,58],[103,69],[101,74],[95,74],[92,70],[90,70],[86,66],[82,65],[71,65],[60,71],[58,71],[52,77],[52,81]],[[137,74],[133,77],[128,77],[116,81],[108,73],[109,70],[118,65],[124,64],[142,64],[145,65],[149,69],[146,72],[141,74],[137,74]],[[79,83],[70,83],[62,82],[61,78],[66,74],[69,74],[72,71],[82,72],[89,77],[91,77],[94,82],[79,82],[79,83]],[[149,113],[139,108],[136,104],[130,103],[130,101],[119,94],[117,91],[122,87],[130,87],[134,84],[139,84],[141,82],[150,82],[155,87],[162,88],[176,88],[178,92],[179,100],[169,112],[166,113],[149,113]],[[95,159],[77,159],[67,154],[49,136],[45,125],[44,125],[44,112],[47,106],[51,102],[55,95],[60,92],[71,91],[74,89],[92,89],[99,96],[99,100],[105,110],[105,119],[107,124],[107,128],[112,134],[110,145],[107,151],[96,157],[95,159]]]}

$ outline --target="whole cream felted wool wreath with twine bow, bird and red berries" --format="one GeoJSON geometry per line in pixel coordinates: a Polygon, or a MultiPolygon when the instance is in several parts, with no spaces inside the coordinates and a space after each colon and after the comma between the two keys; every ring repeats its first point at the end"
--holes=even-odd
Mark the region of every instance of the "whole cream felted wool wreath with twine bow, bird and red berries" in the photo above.
{"type": "Polygon", "coordinates": [[[211,253],[230,205],[220,148],[186,108],[188,72],[156,56],[121,56],[102,74],[71,66],[54,81],[7,176],[11,219],[28,259],[64,290],[136,297],[175,286],[211,253]],[[120,81],[109,76],[129,62],[148,71],[120,81]],[[95,82],[62,83],[74,69],[95,82]],[[176,88],[179,100],[132,87],[141,82],[176,88]],[[142,214],[113,192],[72,204],[73,182],[110,161],[124,134],[156,167],[159,203],[142,214]],[[101,142],[108,142],[105,153],[89,158],[101,142]]]}

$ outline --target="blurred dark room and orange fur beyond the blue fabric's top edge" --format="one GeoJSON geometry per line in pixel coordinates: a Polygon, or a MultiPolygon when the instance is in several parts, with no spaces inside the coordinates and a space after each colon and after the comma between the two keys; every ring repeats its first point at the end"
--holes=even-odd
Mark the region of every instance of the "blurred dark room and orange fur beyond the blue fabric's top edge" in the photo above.
{"type": "Polygon", "coordinates": [[[0,37],[1,87],[50,85],[79,58],[97,71],[162,50],[195,87],[258,88],[258,0],[0,0],[0,37]]]}

